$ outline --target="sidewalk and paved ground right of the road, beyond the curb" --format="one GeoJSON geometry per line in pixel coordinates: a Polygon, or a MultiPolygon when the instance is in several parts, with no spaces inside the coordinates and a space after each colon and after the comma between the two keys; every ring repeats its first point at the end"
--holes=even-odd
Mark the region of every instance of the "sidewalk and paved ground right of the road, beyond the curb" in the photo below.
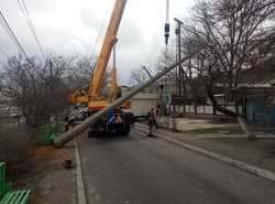
{"type": "MultiPolygon", "coordinates": [[[[275,172],[275,136],[272,133],[275,132],[274,127],[254,126],[253,130],[256,132],[258,140],[250,141],[244,133],[232,133],[234,129],[239,129],[238,124],[209,124],[204,120],[186,118],[177,120],[178,132],[173,132],[170,128],[166,128],[164,124],[161,124],[161,128],[153,129],[153,133],[275,172]],[[189,132],[189,130],[194,129],[222,129],[222,127],[231,127],[232,132],[189,132]]],[[[148,130],[147,124],[140,122],[135,127],[148,130]]]]}

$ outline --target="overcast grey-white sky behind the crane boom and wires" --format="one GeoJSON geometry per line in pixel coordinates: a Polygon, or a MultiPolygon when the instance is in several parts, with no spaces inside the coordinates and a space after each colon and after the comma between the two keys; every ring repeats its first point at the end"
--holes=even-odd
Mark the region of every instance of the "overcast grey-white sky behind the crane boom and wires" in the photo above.
{"type": "MultiPolygon", "coordinates": [[[[98,55],[114,2],[116,0],[24,0],[42,50],[56,56],[98,55]],[[103,20],[103,29],[99,35],[103,20]]],[[[169,0],[172,37],[175,37],[174,18],[182,19],[186,15],[187,7],[191,3],[193,0],[169,0]]],[[[18,0],[0,0],[0,11],[26,54],[42,56],[18,0]]],[[[141,65],[148,66],[157,60],[165,47],[165,17],[166,0],[128,0],[117,43],[119,84],[128,84],[131,69],[141,65]]],[[[0,24],[0,65],[7,63],[6,54],[12,56],[18,53],[19,49],[0,24]]]]}

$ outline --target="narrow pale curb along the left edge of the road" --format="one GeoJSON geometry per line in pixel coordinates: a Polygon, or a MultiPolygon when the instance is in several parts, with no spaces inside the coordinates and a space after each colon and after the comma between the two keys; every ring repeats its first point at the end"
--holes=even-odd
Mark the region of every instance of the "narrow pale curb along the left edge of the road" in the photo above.
{"type": "Polygon", "coordinates": [[[76,186],[77,186],[77,203],[78,204],[87,204],[82,170],[81,170],[81,160],[79,155],[79,148],[77,139],[75,139],[76,147],[76,186]]]}

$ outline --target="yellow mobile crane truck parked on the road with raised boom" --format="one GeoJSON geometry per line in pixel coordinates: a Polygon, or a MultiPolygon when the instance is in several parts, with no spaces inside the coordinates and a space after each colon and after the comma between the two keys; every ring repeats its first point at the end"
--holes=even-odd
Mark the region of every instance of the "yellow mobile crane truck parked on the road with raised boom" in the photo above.
{"type": "MultiPolygon", "coordinates": [[[[110,105],[117,99],[117,93],[122,94],[121,86],[117,86],[117,72],[116,67],[112,69],[112,94],[109,99],[100,96],[100,89],[103,84],[103,77],[106,74],[107,65],[110,60],[113,46],[117,43],[117,33],[121,22],[121,18],[124,11],[127,0],[116,0],[116,4],[112,11],[112,15],[108,25],[108,30],[105,36],[105,41],[101,47],[98,63],[95,68],[94,78],[89,86],[88,94],[84,90],[76,90],[68,96],[68,101],[72,104],[86,103],[88,104],[88,116],[94,115],[98,110],[101,110],[106,106],[110,105]]],[[[130,127],[134,121],[146,120],[146,117],[134,117],[132,112],[123,109],[130,109],[131,103],[125,101],[118,109],[109,112],[107,116],[99,119],[91,127],[89,137],[97,135],[98,132],[118,131],[121,135],[129,135],[130,127]]]]}

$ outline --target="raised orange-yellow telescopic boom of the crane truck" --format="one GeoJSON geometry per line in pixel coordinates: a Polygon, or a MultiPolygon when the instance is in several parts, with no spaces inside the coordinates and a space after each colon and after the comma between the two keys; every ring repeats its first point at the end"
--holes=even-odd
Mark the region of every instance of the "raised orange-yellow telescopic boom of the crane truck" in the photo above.
{"type": "Polygon", "coordinates": [[[105,36],[103,45],[99,55],[98,63],[95,68],[95,75],[89,87],[89,100],[99,99],[100,88],[102,87],[106,69],[112,52],[112,47],[117,42],[117,33],[121,22],[121,18],[125,8],[127,0],[116,0],[112,15],[105,36]]]}

